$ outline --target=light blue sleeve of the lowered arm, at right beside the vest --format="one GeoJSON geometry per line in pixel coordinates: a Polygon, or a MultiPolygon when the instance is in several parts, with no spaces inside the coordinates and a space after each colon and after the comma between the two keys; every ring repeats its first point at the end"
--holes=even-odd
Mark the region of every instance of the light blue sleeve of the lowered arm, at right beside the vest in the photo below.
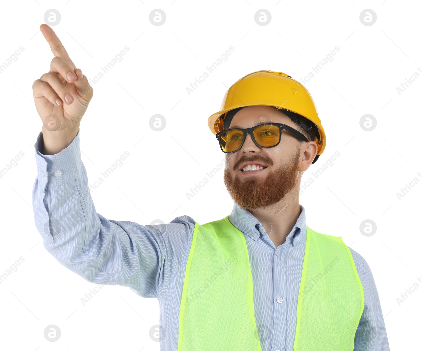
{"type": "Polygon", "coordinates": [[[364,310],[354,338],[354,351],[390,351],[373,273],[365,259],[349,249],[364,290],[364,310]]]}

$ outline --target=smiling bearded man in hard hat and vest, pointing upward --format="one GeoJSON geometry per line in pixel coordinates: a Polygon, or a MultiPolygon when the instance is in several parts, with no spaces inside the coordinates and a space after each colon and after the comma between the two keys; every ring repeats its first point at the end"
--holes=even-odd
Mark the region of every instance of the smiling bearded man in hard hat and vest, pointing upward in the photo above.
{"type": "Polygon", "coordinates": [[[44,122],[33,205],[44,246],[62,265],[160,300],[163,350],[389,350],[368,264],[341,228],[310,229],[298,202],[301,175],[326,140],[304,86],[253,72],[209,117],[226,155],[230,215],[203,225],[188,216],[156,226],[109,221],[96,213],[80,158],[93,90],[53,30],[40,29],[55,57],[33,85],[44,122]]]}

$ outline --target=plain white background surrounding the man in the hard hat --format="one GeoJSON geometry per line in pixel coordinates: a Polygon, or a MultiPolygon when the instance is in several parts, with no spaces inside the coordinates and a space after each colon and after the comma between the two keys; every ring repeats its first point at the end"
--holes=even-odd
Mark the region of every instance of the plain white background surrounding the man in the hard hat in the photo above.
{"type": "Polygon", "coordinates": [[[370,265],[390,348],[421,347],[421,289],[397,302],[421,279],[421,182],[405,197],[397,197],[405,184],[415,177],[421,180],[421,78],[397,92],[421,65],[419,3],[33,0],[2,2],[1,7],[0,63],[19,46],[24,51],[0,74],[0,168],[20,151],[24,157],[0,178],[0,275],[20,256],[24,262],[0,285],[0,348],[159,350],[159,343],[149,338],[150,327],[159,324],[157,300],[140,298],[127,287],[105,286],[83,306],[80,298],[96,285],[61,266],[35,229],[34,142],[42,122],[32,83],[49,71],[53,58],[39,31],[51,8],[61,13],[54,31],[90,79],[125,45],[130,48],[123,61],[91,83],[94,95],[81,123],[80,144],[90,182],[125,151],[130,153],[92,197],[106,218],[141,224],[156,218],[168,223],[180,215],[203,224],[231,213],[222,171],[194,197],[186,196],[224,159],[208,129],[208,117],[219,111],[227,88],[246,74],[269,69],[301,80],[338,46],[333,60],[305,85],[316,103],[327,146],[303,181],[336,151],[340,156],[302,191],[300,203],[312,229],[342,236],[370,265]],[[159,27],[149,22],[156,8],[167,16],[159,27]],[[272,14],[267,26],[254,21],[261,8],[272,14]],[[367,8],[377,14],[372,26],[360,22],[367,8]],[[228,60],[189,95],[190,83],[231,45],[235,50],[228,60]],[[165,117],[167,125],[160,132],[149,127],[154,114],[165,117]],[[377,120],[370,132],[360,127],[364,114],[377,120]],[[189,139],[186,133],[192,130],[189,139]],[[360,232],[366,219],[377,225],[370,237],[360,232]],[[55,343],[43,336],[49,324],[62,332],[55,343]]]}

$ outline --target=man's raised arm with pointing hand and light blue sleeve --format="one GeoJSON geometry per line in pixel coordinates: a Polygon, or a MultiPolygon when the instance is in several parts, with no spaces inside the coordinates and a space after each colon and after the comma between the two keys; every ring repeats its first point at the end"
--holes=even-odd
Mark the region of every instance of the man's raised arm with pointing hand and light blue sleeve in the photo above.
{"type": "Polygon", "coordinates": [[[32,202],[44,247],[89,282],[159,297],[188,253],[195,221],[183,216],[166,225],[143,226],[96,213],[79,149],[80,120],[93,91],[53,30],[46,24],[40,29],[55,55],[50,72],[33,85],[43,129],[35,143],[32,202]],[[75,77],[64,78],[69,72],[75,77]],[[72,101],[66,101],[67,94],[72,101]]]}

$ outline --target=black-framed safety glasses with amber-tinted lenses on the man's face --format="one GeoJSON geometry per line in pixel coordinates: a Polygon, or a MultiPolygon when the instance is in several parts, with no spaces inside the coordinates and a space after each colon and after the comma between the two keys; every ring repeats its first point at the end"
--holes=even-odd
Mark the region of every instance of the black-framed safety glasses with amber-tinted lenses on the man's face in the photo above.
{"type": "Polygon", "coordinates": [[[298,130],[284,123],[265,123],[251,128],[232,128],[216,134],[221,150],[226,154],[236,152],[244,144],[245,137],[250,134],[254,144],[258,147],[277,146],[281,141],[282,130],[286,130],[298,140],[308,141],[298,130]]]}

